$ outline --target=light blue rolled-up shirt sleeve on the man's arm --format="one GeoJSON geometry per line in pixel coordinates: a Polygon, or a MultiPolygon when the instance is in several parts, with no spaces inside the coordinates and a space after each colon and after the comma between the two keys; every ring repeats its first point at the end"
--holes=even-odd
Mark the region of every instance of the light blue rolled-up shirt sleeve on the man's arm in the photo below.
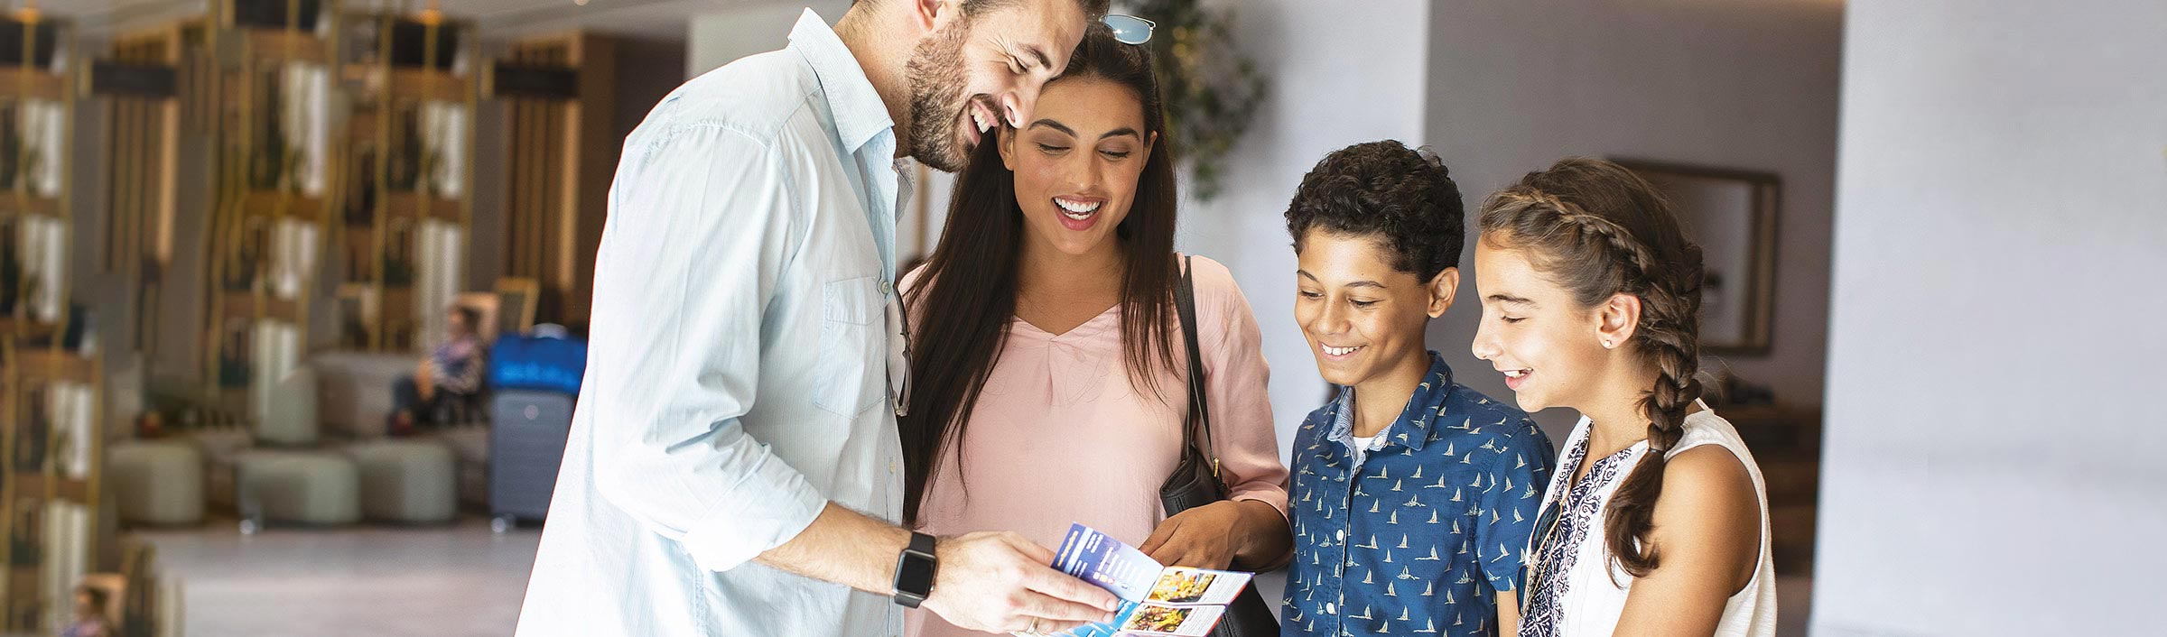
{"type": "Polygon", "coordinates": [[[626,154],[581,396],[596,410],[594,485],[700,568],[732,570],[828,503],[739,420],[761,390],[765,308],[806,232],[800,195],[778,147],[728,128],[626,154]]]}

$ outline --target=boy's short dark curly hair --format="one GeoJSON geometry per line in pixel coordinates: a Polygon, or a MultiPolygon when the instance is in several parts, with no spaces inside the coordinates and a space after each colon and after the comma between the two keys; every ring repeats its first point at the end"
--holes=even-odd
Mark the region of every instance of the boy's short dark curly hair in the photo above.
{"type": "Polygon", "coordinates": [[[1428,282],[1461,264],[1467,206],[1452,171],[1428,147],[1367,141],[1326,154],[1287,204],[1294,251],[1311,230],[1378,236],[1391,266],[1428,282]]]}

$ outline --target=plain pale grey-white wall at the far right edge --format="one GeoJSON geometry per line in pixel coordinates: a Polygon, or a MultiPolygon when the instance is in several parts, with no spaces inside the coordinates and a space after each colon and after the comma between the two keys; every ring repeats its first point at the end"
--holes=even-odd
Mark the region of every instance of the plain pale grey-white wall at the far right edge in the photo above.
{"type": "Polygon", "coordinates": [[[1814,635],[2160,635],[2167,2],[1848,13],[1814,635]]]}

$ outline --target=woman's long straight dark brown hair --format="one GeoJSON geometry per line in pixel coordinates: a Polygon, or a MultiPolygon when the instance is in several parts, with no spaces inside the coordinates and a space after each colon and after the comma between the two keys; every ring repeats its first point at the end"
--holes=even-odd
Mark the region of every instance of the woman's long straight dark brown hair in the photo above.
{"type": "MultiPolygon", "coordinates": [[[[1177,197],[1175,156],[1166,150],[1166,115],[1151,74],[1151,50],[1114,41],[1112,30],[1092,24],[1068,58],[1068,69],[1053,82],[1068,78],[1103,78],[1129,87],[1144,106],[1151,158],[1138,176],[1129,214],[1114,227],[1125,269],[1120,340],[1129,381],[1138,392],[1164,399],[1153,368],[1179,368],[1172,349],[1177,197]]],[[[940,245],[904,297],[908,310],[923,310],[914,314],[921,318],[910,334],[910,414],[897,420],[904,438],[904,524],[917,524],[919,503],[940,468],[943,451],[960,444],[971,407],[1008,342],[1008,325],[1016,316],[1023,232],[1016,176],[1001,162],[999,141],[988,136],[956,176],[940,245]]],[[[960,451],[956,459],[962,461],[960,451]]]]}

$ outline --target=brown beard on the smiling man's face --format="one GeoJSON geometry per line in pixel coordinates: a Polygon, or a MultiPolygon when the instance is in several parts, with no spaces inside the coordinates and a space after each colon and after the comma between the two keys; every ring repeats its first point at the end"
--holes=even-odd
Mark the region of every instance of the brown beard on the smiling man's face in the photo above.
{"type": "MultiPolygon", "coordinates": [[[[953,173],[962,171],[969,150],[956,136],[956,121],[969,104],[964,98],[962,39],[971,20],[958,20],[945,30],[919,41],[904,65],[910,87],[910,156],[919,162],[953,173]]],[[[988,130],[979,143],[992,139],[988,130]]]]}

